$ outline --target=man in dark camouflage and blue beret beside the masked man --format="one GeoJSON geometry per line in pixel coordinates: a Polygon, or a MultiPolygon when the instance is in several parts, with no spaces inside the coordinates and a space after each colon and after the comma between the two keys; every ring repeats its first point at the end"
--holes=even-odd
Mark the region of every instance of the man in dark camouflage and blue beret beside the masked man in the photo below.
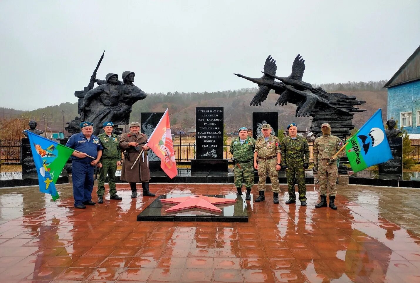
{"type": "Polygon", "coordinates": [[[281,168],[286,173],[289,188],[289,200],[286,204],[296,202],[294,183],[297,181],[299,188],[299,201],[301,206],[306,206],[305,169],[309,167],[309,145],[306,138],[297,135],[297,125],[291,123],[287,126],[289,136],[281,142],[281,168]]]}

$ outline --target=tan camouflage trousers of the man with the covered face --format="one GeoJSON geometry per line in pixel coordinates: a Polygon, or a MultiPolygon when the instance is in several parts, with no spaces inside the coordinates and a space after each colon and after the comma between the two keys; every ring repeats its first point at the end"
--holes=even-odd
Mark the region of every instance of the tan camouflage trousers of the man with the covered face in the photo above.
{"type": "Polygon", "coordinates": [[[337,169],[337,163],[327,165],[328,159],[320,159],[318,161],[318,181],[319,191],[323,196],[327,195],[327,190],[330,192],[330,196],[337,194],[337,177],[339,171],[337,169]]]}

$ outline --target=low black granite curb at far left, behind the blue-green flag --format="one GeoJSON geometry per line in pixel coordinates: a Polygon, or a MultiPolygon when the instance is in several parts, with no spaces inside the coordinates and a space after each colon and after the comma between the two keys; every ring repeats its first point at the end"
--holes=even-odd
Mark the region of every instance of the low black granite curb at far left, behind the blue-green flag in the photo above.
{"type": "MultiPolygon", "coordinates": [[[[61,172],[58,177],[57,184],[68,184],[68,174],[66,171],[61,172]]],[[[24,174],[22,172],[1,172],[0,173],[0,188],[7,187],[21,187],[21,186],[36,186],[39,185],[38,175],[24,174]]]]}

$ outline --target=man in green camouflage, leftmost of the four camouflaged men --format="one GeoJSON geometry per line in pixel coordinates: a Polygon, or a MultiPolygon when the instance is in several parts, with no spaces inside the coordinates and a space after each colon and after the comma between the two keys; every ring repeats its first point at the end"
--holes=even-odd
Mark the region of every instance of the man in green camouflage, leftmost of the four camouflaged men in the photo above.
{"type": "Polygon", "coordinates": [[[234,166],[234,183],[238,190],[237,196],[242,196],[242,180],[245,180],[247,195],[245,200],[251,199],[251,188],[254,185],[254,164],[253,155],[255,150],[255,139],[248,137],[248,129],[241,127],[239,137],[231,142],[230,151],[233,154],[232,163],[234,166]]]}

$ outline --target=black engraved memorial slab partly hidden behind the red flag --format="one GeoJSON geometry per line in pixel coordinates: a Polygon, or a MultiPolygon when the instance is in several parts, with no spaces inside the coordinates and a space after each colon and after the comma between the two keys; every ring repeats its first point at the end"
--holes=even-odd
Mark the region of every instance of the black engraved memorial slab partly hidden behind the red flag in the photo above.
{"type": "MultiPolygon", "coordinates": [[[[147,135],[147,139],[150,138],[152,132],[155,130],[157,123],[163,116],[163,112],[142,112],[140,119],[142,121],[141,131],[144,135],[147,135]]],[[[149,159],[150,171],[162,171],[160,168],[160,158],[156,156],[153,151],[147,151],[147,158],[149,159]]]]}

